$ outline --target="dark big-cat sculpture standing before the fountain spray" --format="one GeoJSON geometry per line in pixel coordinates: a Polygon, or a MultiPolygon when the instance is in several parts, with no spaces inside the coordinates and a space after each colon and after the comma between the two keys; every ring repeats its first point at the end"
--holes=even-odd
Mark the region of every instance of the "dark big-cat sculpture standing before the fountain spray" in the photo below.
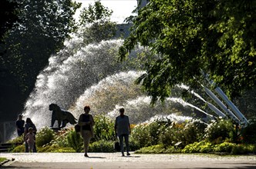
{"type": "Polygon", "coordinates": [[[62,110],[57,104],[49,104],[49,111],[52,111],[52,121],[50,127],[53,127],[55,121],[58,121],[59,128],[65,128],[67,123],[77,123],[77,119],[69,111],[62,110]]]}

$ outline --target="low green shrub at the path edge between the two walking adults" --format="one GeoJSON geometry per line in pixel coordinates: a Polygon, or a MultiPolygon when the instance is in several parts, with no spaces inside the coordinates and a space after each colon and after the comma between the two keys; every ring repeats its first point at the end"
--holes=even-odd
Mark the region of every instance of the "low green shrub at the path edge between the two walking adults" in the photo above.
{"type": "Polygon", "coordinates": [[[114,152],[114,142],[113,141],[95,141],[92,144],[89,144],[90,152],[114,152]]]}

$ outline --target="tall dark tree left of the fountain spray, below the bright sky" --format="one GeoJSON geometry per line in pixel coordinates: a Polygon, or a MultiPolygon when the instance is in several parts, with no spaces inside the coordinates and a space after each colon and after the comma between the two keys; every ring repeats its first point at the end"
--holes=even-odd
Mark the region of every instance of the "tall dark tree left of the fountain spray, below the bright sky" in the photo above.
{"type": "Polygon", "coordinates": [[[16,2],[20,21],[5,34],[2,60],[22,91],[29,93],[50,55],[62,48],[74,30],[73,15],[80,4],[72,0],[16,2]]]}

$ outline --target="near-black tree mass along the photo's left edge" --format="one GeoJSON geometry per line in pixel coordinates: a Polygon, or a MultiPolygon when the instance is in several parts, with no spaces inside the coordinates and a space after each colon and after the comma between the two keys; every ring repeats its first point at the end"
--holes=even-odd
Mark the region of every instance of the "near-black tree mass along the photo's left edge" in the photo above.
{"type": "Polygon", "coordinates": [[[12,0],[2,0],[0,2],[0,114],[2,117],[0,122],[6,121],[6,119],[8,121],[14,119],[10,116],[10,113],[19,112],[18,110],[22,108],[22,106],[19,106],[19,92],[13,83],[14,77],[10,75],[8,69],[3,65],[2,58],[5,53],[2,48],[3,38],[5,32],[12,28],[15,22],[19,21],[18,8],[18,4],[12,0]],[[14,100],[13,98],[16,99],[14,100]]]}

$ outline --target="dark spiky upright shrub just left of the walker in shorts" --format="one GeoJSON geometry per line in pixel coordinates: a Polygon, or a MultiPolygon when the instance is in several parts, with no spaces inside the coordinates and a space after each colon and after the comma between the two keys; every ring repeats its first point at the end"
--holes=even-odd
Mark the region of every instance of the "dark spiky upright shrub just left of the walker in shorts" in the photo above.
{"type": "Polygon", "coordinates": [[[72,147],[76,152],[81,152],[83,150],[83,139],[79,133],[76,133],[76,131],[69,131],[67,134],[67,141],[69,147],[72,147]]]}

